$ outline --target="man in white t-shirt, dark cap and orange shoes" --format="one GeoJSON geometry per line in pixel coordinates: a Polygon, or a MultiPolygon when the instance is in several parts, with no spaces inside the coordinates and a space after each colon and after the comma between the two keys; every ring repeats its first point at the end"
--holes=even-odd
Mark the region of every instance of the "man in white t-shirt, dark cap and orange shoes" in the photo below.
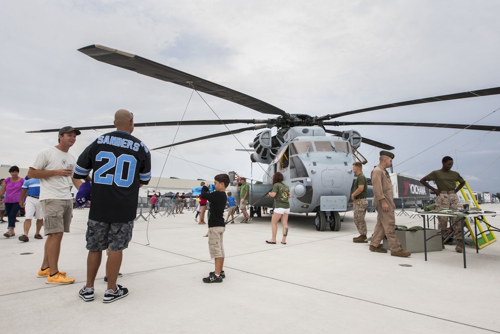
{"type": "Polygon", "coordinates": [[[76,163],[69,148],[79,135],[78,130],[65,126],[59,130],[59,143],[38,153],[35,161],[29,166],[28,177],[40,179],[40,202],[44,212],[45,252],[43,262],[38,270],[38,277],[47,277],[47,284],[70,284],[74,279],[59,271],[60,244],[62,234],[69,232],[73,197],[70,193],[69,180],[76,189],[81,180],[73,179],[73,168],[76,163]]]}

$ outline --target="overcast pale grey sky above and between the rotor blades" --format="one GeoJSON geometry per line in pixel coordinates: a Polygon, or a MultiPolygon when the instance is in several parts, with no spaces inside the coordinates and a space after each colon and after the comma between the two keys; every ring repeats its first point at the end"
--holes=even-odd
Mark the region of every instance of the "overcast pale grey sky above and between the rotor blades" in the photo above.
{"type": "MultiPolygon", "coordinates": [[[[190,99],[189,89],[76,51],[92,44],[213,81],[288,113],[317,116],[500,86],[495,0],[29,3],[7,0],[0,11],[0,163],[21,168],[57,143],[56,134],[24,131],[112,124],[120,108],[133,112],[137,123],[270,116],[207,95],[202,95],[206,104],[196,94],[190,99]]],[[[338,120],[500,126],[498,108],[500,96],[490,96],[338,120]]],[[[354,129],[395,147],[394,172],[420,178],[450,155],[453,169],[472,190],[500,192],[498,132],[354,129]]],[[[222,131],[221,126],[136,128],[133,135],[152,148],[222,131]]],[[[259,179],[262,169],[247,153],[235,151],[257,133],[153,151],[153,176],[210,180],[234,170],[259,179]]],[[[78,156],[100,134],[85,131],[70,152],[78,156]]],[[[362,145],[359,151],[368,159],[369,174],[380,150],[362,145]]]]}

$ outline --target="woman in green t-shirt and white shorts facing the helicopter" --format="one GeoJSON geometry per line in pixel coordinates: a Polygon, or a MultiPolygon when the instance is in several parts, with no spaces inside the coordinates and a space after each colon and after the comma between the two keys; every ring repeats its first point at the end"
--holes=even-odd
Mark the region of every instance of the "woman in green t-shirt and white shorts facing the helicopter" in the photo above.
{"type": "Polygon", "coordinates": [[[278,221],[281,219],[281,225],[283,225],[283,238],[281,239],[281,243],[285,245],[286,236],[288,235],[288,213],[290,213],[288,198],[290,198],[291,195],[290,188],[283,183],[283,174],[280,172],[276,172],[272,176],[272,190],[267,193],[267,196],[274,197],[274,211],[271,216],[272,237],[270,240],[265,240],[265,242],[276,243],[278,221]]]}

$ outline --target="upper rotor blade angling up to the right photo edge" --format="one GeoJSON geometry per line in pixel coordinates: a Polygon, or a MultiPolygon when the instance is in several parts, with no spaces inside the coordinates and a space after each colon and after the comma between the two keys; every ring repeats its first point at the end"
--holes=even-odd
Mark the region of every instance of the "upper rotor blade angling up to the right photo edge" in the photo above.
{"type": "Polygon", "coordinates": [[[411,106],[414,104],[421,104],[421,103],[466,99],[466,98],[473,98],[473,97],[477,97],[477,96],[488,96],[488,95],[496,95],[496,94],[500,94],[500,87],[487,88],[487,89],[481,89],[481,90],[477,90],[477,91],[455,93],[455,94],[441,95],[441,96],[435,96],[435,97],[424,98],[424,99],[417,99],[417,100],[411,100],[411,101],[403,101],[403,102],[385,104],[382,106],[345,111],[343,113],[329,114],[329,115],[317,117],[316,119],[318,121],[325,121],[325,120],[331,120],[333,118],[338,118],[338,117],[353,115],[353,114],[359,114],[359,113],[364,113],[364,112],[373,111],[373,110],[380,110],[380,109],[387,109],[387,108],[394,108],[394,107],[401,107],[401,106],[411,106]]]}

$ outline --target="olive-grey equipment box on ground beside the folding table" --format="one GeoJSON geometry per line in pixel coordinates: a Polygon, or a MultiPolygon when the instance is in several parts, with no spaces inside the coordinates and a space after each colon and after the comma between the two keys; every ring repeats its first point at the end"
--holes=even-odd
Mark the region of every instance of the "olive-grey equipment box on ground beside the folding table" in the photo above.
{"type": "MultiPolygon", "coordinates": [[[[427,239],[433,235],[436,235],[439,230],[427,229],[425,230],[425,234],[427,239]]],[[[397,240],[401,244],[401,247],[404,250],[407,250],[411,253],[421,253],[424,251],[423,245],[423,231],[398,231],[396,230],[397,240]]],[[[389,249],[389,243],[387,239],[383,238],[383,248],[389,249]]],[[[436,250],[442,250],[441,237],[435,236],[432,239],[427,240],[427,251],[433,252],[436,250]]]]}

